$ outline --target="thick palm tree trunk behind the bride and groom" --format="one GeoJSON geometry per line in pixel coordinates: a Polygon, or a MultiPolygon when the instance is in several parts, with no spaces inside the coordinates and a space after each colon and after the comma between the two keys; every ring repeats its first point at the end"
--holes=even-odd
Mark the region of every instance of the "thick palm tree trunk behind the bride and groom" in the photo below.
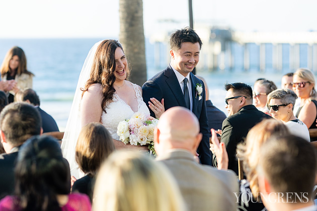
{"type": "Polygon", "coordinates": [[[146,82],[145,38],[142,0],[119,0],[119,41],[130,63],[131,82],[142,86],[146,82]]]}

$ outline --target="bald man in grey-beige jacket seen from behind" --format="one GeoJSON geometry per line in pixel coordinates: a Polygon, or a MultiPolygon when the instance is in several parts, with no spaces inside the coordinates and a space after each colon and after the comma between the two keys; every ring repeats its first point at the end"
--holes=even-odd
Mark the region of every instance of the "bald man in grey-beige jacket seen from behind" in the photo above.
{"type": "Polygon", "coordinates": [[[175,177],[188,211],[236,210],[236,175],[197,162],[194,156],[201,139],[194,114],[184,107],[168,109],[154,132],[157,160],[175,177]]]}

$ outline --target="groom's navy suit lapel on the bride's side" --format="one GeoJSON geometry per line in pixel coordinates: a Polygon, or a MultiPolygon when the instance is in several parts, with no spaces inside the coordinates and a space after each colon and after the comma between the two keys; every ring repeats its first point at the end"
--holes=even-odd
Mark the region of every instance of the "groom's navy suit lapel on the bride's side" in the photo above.
{"type": "Polygon", "coordinates": [[[165,69],[164,75],[168,77],[166,79],[166,83],[170,87],[171,91],[173,92],[179,106],[186,107],[183,91],[180,88],[178,79],[170,65],[165,69]]]}

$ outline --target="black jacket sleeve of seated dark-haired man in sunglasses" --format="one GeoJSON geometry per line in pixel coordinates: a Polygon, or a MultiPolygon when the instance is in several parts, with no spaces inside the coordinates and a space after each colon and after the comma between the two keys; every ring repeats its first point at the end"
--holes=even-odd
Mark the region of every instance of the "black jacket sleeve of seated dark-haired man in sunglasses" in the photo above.
{"type": "Polygon", "coordinates": [[[225,119],[222,124],[221,142],[225,144],[228,153],[228,168],[236,171],[236,135],[234,133],[234,128],[228,119],[225,119]]]}

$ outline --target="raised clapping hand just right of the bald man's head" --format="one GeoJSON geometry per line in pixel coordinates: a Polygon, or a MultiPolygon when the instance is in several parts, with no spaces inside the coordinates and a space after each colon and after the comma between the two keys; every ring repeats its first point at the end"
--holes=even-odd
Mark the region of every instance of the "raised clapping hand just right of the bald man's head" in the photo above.
{"type": "Polygon", "coordinates": [[[216,155],[217,168],[219,170],[220,169],[227,170],[229,158],[228,158],[226,146],[223,142],[219,143],[217,133],[214,129],[211,129],[210,131],[211,131],[211,142],[212,142],[212,147],[210,147],[210,150],[212,150],[213,153],[216,155]]]}

